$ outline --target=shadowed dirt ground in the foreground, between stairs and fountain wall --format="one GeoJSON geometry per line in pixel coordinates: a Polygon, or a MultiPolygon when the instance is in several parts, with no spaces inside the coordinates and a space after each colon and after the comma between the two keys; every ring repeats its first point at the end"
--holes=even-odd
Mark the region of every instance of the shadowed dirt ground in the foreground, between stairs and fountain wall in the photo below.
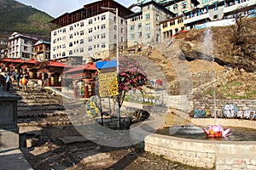
{"type": "MultiPolygon", "coordinates": [[[[144,152],[143,143],[113,148],[84,139],[73,126],[34,128],[41,135],[36,147],[22,148],[34,169],[200,169],[144,152]]],[[[201,168],[203,169],[203,168],[201,168]]]]}

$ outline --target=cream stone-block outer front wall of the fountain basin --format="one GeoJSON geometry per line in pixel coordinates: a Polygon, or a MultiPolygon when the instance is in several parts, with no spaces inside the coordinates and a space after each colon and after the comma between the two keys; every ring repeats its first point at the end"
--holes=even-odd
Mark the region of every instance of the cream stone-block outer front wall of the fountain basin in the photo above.
{"type": "Polygon", "coordinates": [[[194,167],[256,169],[254,142],[214,142],[179,139],[153,134],[145,138],[145,150],[194,167]]]}

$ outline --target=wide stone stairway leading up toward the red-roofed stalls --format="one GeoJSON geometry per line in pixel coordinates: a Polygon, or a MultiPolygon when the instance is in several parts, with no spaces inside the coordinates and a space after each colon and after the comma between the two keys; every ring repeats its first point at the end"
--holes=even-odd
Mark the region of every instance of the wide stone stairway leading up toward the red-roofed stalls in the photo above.
{"type": "Polygon", "coordinates": [[[50,90],[42,90],[28,83],[27,91],[20,88],[11,89],[12,94],[20,95],[17,102],[17,122],[21,126],[67,125],[71,124],[67,117],[62,96],[50,90]]]}

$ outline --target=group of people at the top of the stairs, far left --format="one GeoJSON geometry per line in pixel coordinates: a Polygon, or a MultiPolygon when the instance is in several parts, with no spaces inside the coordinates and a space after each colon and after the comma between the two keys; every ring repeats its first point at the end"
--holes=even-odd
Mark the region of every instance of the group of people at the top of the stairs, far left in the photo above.
{"type": "Polygon", "coordinates": [[[17,87],[20,88],[20,84],[22,90],[26,92],[27,82],[28,82],[28,74],[23,72],[23,74],[19,74],[15,71],[7,71],[5,74],[2,74],[0,77],[1,88],[5,89],[9,92],[11,88],[12,82],[17,82],[17,87]]]}

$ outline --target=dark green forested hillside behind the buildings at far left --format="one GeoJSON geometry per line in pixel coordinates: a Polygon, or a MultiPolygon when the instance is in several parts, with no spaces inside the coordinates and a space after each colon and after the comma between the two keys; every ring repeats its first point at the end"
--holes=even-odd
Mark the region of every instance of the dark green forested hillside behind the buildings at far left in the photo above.
{"type": "Polygon", "coordinates": [[[53,19],[49,14],[15,0],[0,0],[0,36],[3,38],[9,37],[13,31],[20,31],[49,40],[54,28],[49,21],[53,19]]]}

